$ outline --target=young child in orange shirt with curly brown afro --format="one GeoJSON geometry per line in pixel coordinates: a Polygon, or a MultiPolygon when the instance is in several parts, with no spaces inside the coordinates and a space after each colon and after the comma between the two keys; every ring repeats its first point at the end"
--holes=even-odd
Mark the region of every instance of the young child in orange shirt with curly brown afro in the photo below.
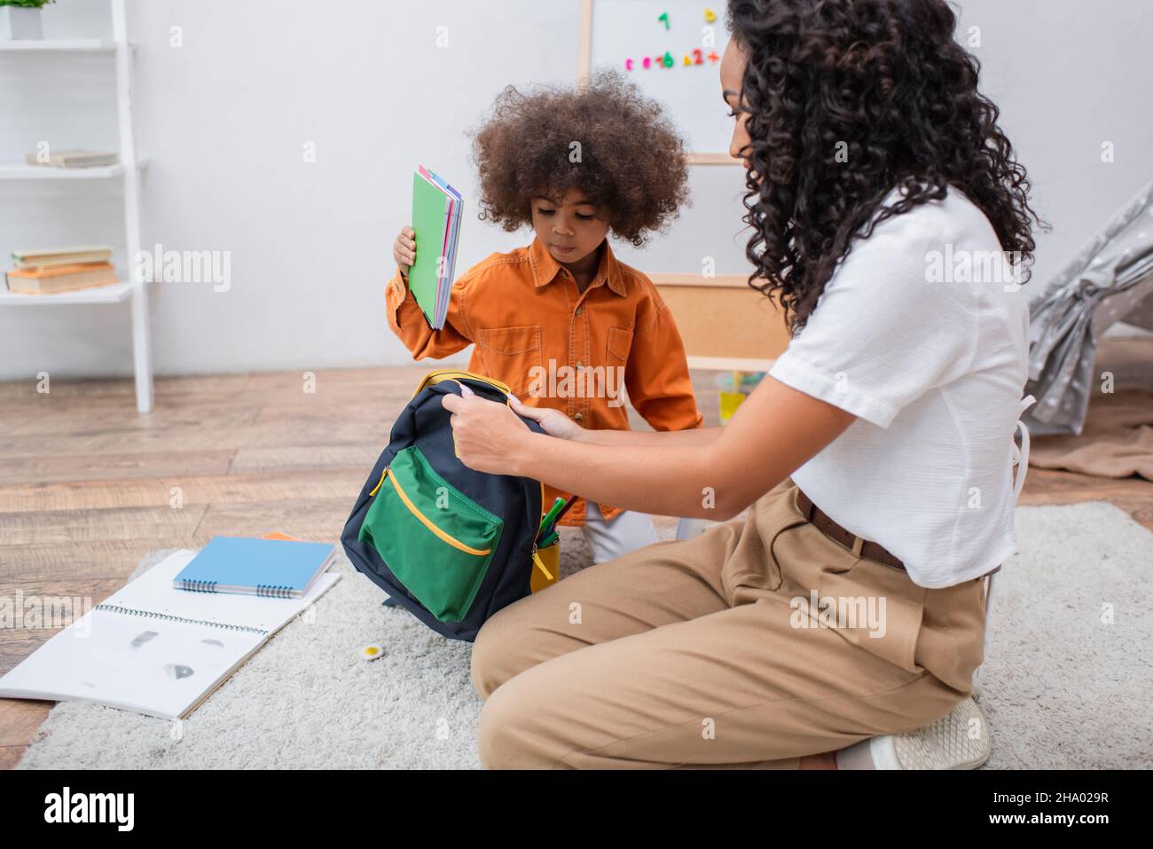
{"type": "MultiPolygon", "coordinates": [[[[475,343],[472,370],[583,428],[628,429],[623,388],[656,430],[700,427],[672,315],[606,239],[640,247],[686,201],[684,144],[660,107],[618,74],[575,91],[510,87],[475,134],[474,152],[481,218],[510,232],[530,226],[536,238],[462,275],[445,326],[432,330],[406,285],[415,233],[401,230],[389,324],[414,358],[475,343]]],[[[545,487],[544,503],[567,495],[545,487]]],[[[610,504],[579,501],[560,521],[582,527],[597,563],[657,539],[648,514],[610,504]]]]}

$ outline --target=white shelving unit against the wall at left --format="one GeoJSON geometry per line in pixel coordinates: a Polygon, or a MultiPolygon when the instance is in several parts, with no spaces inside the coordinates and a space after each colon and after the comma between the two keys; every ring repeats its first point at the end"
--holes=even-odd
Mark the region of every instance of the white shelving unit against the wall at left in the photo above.
{"type": "MultiPolygon", "coordinates": [[[[136,376],[136,410],[152,410],[152,339],[149,329],[148,284],[133,280],[131,262],[141,248],[141,168],[133,135],[131,46],[125,0],[112,3],[112,40],[0,40],[0,52],[12,53],[108,53],[115,58],[116,118],[120,127],[120,163],[97,168],[52,168],[24,163],[0,163],[2,180],[122,180],[125,193],[125,240],[128,266],[121,283],[50,295],[14,294],[0,290],[0,307],[47,309],[59,306],[122,303],[128,301],[133,318],[133,369],[136,376]]],[[[2,189],[0,189],[2,191],[2,189]]],[[[84,239],[77,241],[83,242],[84,239]]]]}

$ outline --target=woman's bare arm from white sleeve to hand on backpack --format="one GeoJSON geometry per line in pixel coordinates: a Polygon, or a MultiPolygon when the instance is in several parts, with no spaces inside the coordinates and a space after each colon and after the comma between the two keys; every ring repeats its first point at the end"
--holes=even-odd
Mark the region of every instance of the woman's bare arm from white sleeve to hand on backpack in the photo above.
{"type": "MultiPolygon", "coordinates": [[[[533,478],[589,501],[663,516],[732,518],[839,436],[854,418],[766,377],[708,444],[645,434],[589,443],[534,434],[507,406],[445,396],[457,450],[469,467],[533,478]]],[[[602,433],[602,431],[594,431],[602,433]]],[[[695,431],[702,433],[700,430],[695,431]]],[[[601,437],[597,437],[601,438],[601,437]]]]}

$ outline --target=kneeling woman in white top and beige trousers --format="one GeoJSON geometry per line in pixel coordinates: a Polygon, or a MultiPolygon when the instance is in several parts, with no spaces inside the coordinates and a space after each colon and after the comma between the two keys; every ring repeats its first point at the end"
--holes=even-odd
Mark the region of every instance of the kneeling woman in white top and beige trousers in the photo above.
{"type": "Polygon", "coordinates": [[[481,759],[972,768],[987,577],[1017,550],[1026,463],[1013,480],[1025,172],[943,0],[730,0],[729,21],[751,283],[793,338],[724,428],[521,408],[534,434],[445,399],[474,468],[723,521],[489,619],[481,759]]]}

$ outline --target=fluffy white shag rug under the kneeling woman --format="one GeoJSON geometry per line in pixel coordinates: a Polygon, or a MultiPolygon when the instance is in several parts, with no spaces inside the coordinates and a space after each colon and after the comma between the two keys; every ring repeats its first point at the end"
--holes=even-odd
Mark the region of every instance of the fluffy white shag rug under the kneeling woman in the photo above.
{"type": "MultiPolygon", "coordinates": [[[[1017,532],[980,674],[987,768],[1153,766],[1153,534],[1105,502],[1018,508],[1017,532]]],[[[579,531],[562,546],[562,574],[590,561],[579,531]]],[[[477,767],[470,644],[383,607],[347,561],[336,568],[345,576],[312,621],[286,625],[179,726],[63,703],[18,768],[477,767]],[[368,643],[385,655],[361,660],[368,643]]]]}

